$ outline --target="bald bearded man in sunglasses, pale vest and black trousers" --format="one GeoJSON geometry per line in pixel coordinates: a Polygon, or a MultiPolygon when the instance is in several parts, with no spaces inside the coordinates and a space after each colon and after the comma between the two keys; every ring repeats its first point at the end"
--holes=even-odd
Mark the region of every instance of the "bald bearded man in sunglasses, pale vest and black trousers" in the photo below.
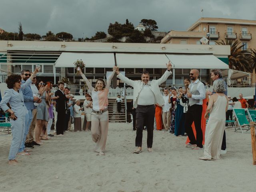
{"type": "Polygon", "coordinates": [[[199,71],[192,69],[189,73],[191,84],[188,86],[188,111],[185,117],[185,129],[188,134],[190,142],[186,144],[186,147],[193,147],[192,149],[203,148],[203,132],[201,129],[202,118],[202,104],[203,99],[206,96],[205,87],[198,79],[199,71]],[[194,122],[196,128],[196,138],[192,130],[192,123],[194,122]]]}

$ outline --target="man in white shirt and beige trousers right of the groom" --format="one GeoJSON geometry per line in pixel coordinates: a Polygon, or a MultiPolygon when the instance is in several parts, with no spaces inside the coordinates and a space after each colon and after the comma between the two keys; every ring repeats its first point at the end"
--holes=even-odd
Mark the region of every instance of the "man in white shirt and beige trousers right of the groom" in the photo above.
{"type": "Polygon", "coordinates": [[[164,130],[167,131],[168,128],[170,127],[170,123],[171,123],[171,107],[172,107],[172,104],[169,103],[169,90],[168,88],[164,88],[164,105],[163,105],[163,108],[162,108],[162,118],[163,118],[163,124],[164,124],[164,130]]]}

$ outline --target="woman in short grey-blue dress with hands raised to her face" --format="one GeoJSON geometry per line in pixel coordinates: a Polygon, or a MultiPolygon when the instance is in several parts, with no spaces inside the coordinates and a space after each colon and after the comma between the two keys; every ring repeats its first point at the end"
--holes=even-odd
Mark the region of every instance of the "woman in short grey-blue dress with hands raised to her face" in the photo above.
{"type": "MultiPolygon", "coordinates": [[[[48,105],[46,102],[50,99],[50,86],[44,86],[44,82],[42,80],[38,80],[36,82],[36,86],[39,90],[39,94],[42,102],[37,106],[37,114],[36,114],[36,128],[35,128],[35,142],[38,144],[43,144],[40,140],[40,135],[43,129],[43,126],[47,127],[47,122],[49,120],[49,112],[48,105]]],[[[42,140],[48,140],[48,138],[42,136],[42,140]]]]}

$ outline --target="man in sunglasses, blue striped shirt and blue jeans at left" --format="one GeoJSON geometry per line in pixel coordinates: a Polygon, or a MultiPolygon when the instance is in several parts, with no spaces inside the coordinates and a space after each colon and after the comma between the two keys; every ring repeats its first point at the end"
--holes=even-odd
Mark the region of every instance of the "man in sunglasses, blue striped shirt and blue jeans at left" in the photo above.
{"type": "MultiPolygon", "coordinates": [[[[26,80],[28,80],[30,78],[30,76],[31,76],[31,73],[29,70],[22,70],[22,72],[21,72],[22,84],[24,84],[26,82],[26,80]]],[[[38,98],[37,96],[33,96],[33,92],[32,92],[32,89],[30,86],[27,86],[23,90],[23,98],[24,98],[24,105],[26,106],[28,113],[25,116],[24,137],[22,140],[22,145],[18,151],[18,154],[19,155],[29,155],[27,153],[27,151],[25,150],[25,147],[26,148],[34,148],[34,146],[29,143],[26,143],[26,145],[25,145],[25,141],[26,141],[26,136],[27,136],[29,128],[30,128],[30,124],[33,119],[32,111],[36,108],[36,106],[34,106],[34,102],[40,102],[40,98],[38,98]]]]}

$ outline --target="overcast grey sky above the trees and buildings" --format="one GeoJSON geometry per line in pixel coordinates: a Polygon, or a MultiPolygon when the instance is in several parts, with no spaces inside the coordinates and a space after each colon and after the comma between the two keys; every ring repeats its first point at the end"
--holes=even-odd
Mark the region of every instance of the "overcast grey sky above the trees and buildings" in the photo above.
{"type": "Polygon", "coordinates": [[[126,18],[137,26],[154,19],[158,31],[186,30],[202,17],[256,20],[256,0],[0,0],[0,28],[45,35],[51,30],[74,38],[108,32],[115,21],[126,18]]]}

